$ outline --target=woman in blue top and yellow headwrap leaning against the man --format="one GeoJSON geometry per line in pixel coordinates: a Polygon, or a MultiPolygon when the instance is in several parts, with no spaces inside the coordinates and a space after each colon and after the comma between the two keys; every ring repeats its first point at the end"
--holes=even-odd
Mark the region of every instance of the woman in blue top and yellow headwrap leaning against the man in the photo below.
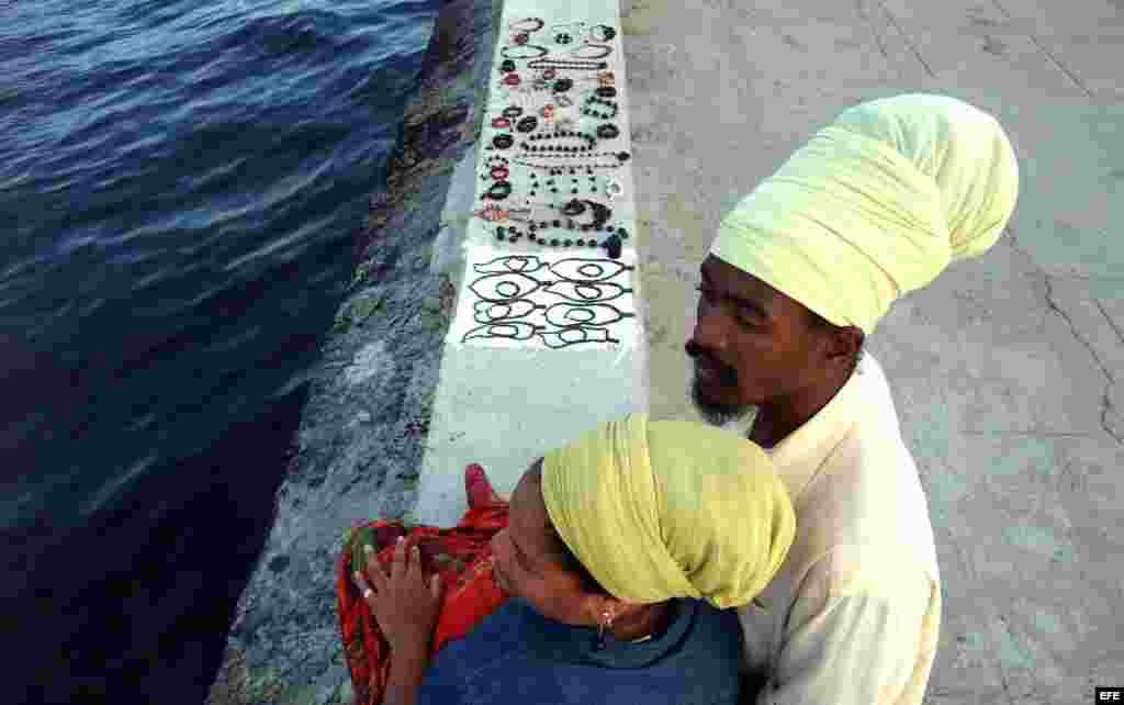
{"type": "MultiPolygon", "coordinates": [[[[640,414],[533,463],[510,505],[481,473],[469,479],[466,519],[491,510],[500,525],[479,544],[475,568],[427,580],[426,562],[434,571],[439,553],[427,560],[407,546],[436,530],[416,528],[369,552],[365,570],[341,591],[342,618],[350,598],[361,600],[392,657],[389,668],[364,671],[384,680],[357,679],[360,702],[736,703],[741,627],[727,608],[761,591],[795,534],[791,503],[759,446],[640,414]],[[489,602],[479,584],[513,599],[474,615],[474,627],[464,615],[451,627],[451,600],[469,612],[489,602]],[[446,586],[452,594],[443,595],[446,586]]],[[[446,531],[457,530],[477,528],[462,521],[446,531]]]]}

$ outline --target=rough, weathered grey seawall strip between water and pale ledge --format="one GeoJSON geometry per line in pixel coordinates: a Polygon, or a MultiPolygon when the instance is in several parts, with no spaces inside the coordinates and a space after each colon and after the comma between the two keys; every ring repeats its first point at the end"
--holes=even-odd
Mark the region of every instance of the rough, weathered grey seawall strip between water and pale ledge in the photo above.
{"type": "Polygon", "coordinates": [[[210,705],[351,702],[334,560],[354,523],[416,503],[454,291],[430,266],[433,245],[453,169],[480,128],[500,6],[441,3],[210,705]]]}

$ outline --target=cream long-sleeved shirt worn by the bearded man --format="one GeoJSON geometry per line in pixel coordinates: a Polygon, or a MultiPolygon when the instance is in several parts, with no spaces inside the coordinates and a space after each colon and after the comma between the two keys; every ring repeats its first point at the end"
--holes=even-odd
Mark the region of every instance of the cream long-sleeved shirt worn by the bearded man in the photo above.
{"type": "Polygon", "coordinates": [[[767,449],[796,541],[762,606],[738,609],[758,705],[918,705],[936,656],[941,578],[913,455],[870,355],[839,394],[767,449]]]}

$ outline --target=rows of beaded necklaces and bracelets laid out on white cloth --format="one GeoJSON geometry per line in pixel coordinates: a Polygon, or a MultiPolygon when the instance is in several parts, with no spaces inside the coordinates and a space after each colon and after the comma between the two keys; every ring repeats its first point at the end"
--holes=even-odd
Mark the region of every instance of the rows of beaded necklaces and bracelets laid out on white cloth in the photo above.
{"type": "Polygon", "coordinates": [[[631,223],[631,201],[623,201],[624,179],[606,171],[631,159],[606,148],[626,141],[605,142],[625,130],[609,69],[610,58],[618,61],[618,31],[537,17],[507,27],[489,81],[492,132],[479,159],[472,215],[484,222],[493,247],[513,254],[472,264],[468,325],[455,335],[462,343],[551,350],[620,344],[636,314],[629,310],[635,266],[624,259],[634,255],[624,253],[628,232],[618,225],[631,223]],[[554,254],[531,254],[536,248],[554,254]]]}

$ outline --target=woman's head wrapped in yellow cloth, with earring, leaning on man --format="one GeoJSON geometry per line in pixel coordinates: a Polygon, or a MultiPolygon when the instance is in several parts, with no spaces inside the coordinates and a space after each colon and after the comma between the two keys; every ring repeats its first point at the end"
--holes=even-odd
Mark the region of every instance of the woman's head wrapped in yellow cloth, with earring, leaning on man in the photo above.
{"type": "Polygon", "coordinates": [[[614,603],[745,604],[795,535],[791,503],[759,446],[643,414],[532,466],[509,522],[493,541],[501,587],[568,624],[596,623],[614,603]]]}

